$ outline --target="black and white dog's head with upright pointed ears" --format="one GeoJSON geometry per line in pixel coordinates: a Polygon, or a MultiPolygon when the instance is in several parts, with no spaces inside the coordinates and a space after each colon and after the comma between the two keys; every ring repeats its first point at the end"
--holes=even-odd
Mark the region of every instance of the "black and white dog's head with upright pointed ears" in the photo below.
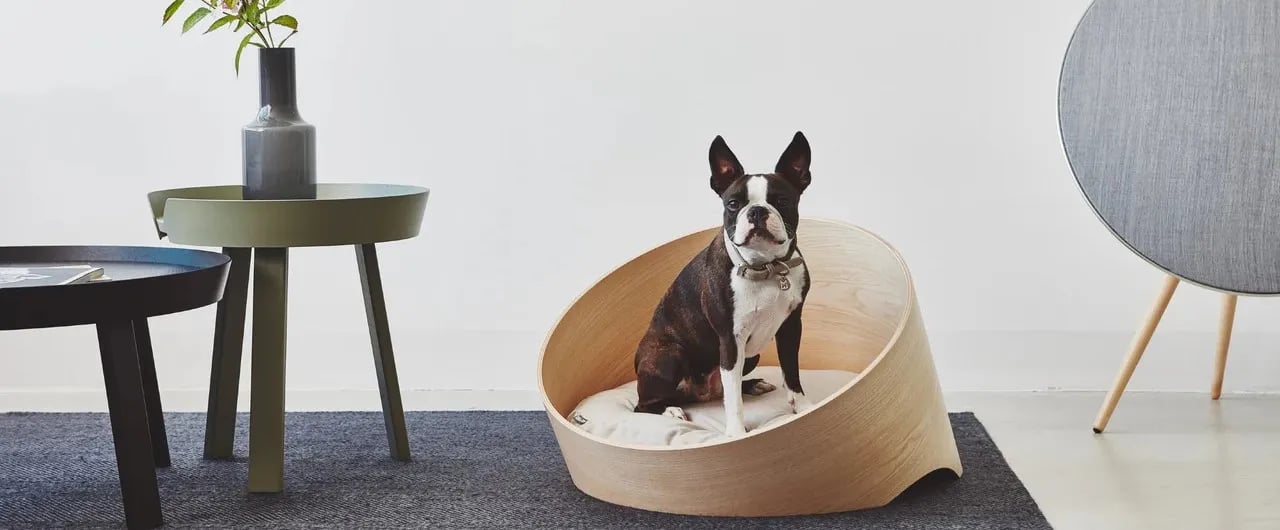
{"type": "Polygon", "coordinates": [[[773,173],[746,174],[724,138],[710,149],[712,189],[724,205],[724,238],[751,264],[782,257],[800,221],[800,193],[809,187],[809,141],[796,133],[773,173]]]}

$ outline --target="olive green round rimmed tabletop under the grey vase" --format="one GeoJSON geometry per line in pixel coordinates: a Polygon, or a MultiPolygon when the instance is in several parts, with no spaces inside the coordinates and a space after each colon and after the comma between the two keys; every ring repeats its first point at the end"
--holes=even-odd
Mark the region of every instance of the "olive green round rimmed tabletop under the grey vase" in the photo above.
{"type": "Polygon", "coordinates": [[[401,184],[315,184],[315,198],[244,198],[243,186],[151,192],[160,237],[212,247],[316,247],[416,237],[429,191],[401,184]]]}

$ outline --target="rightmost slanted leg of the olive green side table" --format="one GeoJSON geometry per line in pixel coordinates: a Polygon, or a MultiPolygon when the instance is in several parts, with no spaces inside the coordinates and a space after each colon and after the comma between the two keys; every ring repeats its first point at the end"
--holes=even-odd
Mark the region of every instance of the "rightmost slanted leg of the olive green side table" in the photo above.
{"type": "Polygon", "coordinates": [[[383,297],[383,274],[378,269],[378,250],[374,243],[356,246],[356,264],[360,266],[360,285],[365,293],[369,341],[374,344],[378,389],[383,396],[387,444],[390,446],[392,458],[408,462],[404,406],[399,397],[399,378],[396,376],[396,355],[392,352],[392,332],[390,324],[387,321],[387,301],[383,297]]]}

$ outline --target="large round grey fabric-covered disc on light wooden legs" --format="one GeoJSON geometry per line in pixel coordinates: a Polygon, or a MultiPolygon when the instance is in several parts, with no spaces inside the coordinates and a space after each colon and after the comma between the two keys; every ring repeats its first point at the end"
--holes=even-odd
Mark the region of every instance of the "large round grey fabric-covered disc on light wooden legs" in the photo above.
{"type": "Polygon", "coordinates": [[[1080,189],[1129,248],[1204,287],[1280,293],[1280,4],[1096,0],[1062,63],[1080,189]]]}

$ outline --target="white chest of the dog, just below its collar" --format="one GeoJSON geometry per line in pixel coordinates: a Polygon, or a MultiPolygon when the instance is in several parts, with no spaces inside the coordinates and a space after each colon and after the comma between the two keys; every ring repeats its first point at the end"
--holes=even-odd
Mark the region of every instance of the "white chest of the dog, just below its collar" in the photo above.
{"type": "Polygon", "coordinates": [[[787,274],[791,285],[782,289],[777,277],[746,279],[731,273],[733,291],[733,335],[746,343],[746,355],[760,353],[777,334],[778,328],[800,305],[804,292],[804,265],[787,274]]]}

